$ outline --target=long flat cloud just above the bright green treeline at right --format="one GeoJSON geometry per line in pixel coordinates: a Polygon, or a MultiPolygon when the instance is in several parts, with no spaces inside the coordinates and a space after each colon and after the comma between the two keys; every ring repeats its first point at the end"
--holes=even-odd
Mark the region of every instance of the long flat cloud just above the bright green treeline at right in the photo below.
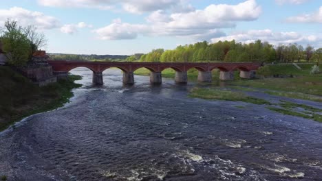
{"type": "Polygon", "coordinates": [[[299,43],[301,45],[319,43],[319,36],[304,36],[297,32],[273,32],[271,29],[249,30],[248,32],[236,32],[229,36],[212,38],[216,43],[224,40],[236,40],[241,43],[251,43],[255,40],[267,41],[273,45],[299,43]]]}

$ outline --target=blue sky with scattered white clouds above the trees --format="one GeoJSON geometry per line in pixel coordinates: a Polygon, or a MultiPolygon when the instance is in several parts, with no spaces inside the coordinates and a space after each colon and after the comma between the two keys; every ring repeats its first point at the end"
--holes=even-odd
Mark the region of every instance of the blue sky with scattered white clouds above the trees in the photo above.
{"type": "Polygon", "coordinates": [[[321,0],[0,0],[50,53],[132,55],[219,40],[322,47],[321,0]]]}

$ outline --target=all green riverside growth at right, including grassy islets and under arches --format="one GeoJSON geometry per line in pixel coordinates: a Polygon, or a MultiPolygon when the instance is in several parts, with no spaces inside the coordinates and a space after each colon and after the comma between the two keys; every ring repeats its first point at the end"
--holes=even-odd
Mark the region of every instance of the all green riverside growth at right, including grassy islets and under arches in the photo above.
{"type": "MultiPolygon", "coordinates": [[[[213,83],[208,84],[210,88],[192,88],[189,97],[202,99],[217,99],[225,101],[244,101],[252,104],[267,105],[266,108],[282,114],[314,119],[322,122],[322,110],[304,104],[296,104],[289,101],[280,101],[279,104],[272,104],[265,99],[251,97],[247,92],[261,91],[269,95],[289,97],[294,99],[305,99],[310,101],[322,102],[322,75],[310,73],[313,64],[299,64],[301,70],[292,64],[272,64],[261,67],[258,73],[264,79],[244,80],[238,77],[235,72],[235,80],[226,81],[224,87],[219,85],[219,71],[213,71],[213,83]],[[288,78],[277,78],[275,75],[288,75],[288,78]]],[[[138,69],[137,75],[149,75],[148,69],[138,69]]],[[[197,80],[198,71],[191,69],[188,71],[189,80],[197,80]]],[[[173,69],[162,71],[163,77],[174,77],[173,69]]],[[[244,106],[236,106],[244,108],[244,106]]]]}

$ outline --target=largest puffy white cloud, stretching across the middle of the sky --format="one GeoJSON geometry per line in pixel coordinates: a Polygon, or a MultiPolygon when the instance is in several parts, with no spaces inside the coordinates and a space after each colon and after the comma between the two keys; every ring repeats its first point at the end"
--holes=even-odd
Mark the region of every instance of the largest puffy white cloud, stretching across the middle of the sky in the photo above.
{"type": "Polygon", "coordinates": [[[112,23],[95,32],[100,39],[117,40],[148,36],[189,36],[207,38],[222,36],[221,28],[235,27],[237,21],[254,21],[261,14],[255,0],[237,5],[209,5],[204,10],[167,14],[164,10],[152,12],[147,24],[112,23]],[[117,33],[113,32],[114,29],[117,33]]]}

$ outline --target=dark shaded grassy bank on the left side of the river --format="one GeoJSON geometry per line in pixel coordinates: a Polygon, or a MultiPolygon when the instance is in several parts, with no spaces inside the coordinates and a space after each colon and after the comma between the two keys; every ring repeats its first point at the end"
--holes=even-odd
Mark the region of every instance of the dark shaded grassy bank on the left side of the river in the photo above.
{"type": "Polygon", "coordinates": [[[0,131],[23,117],[63,106],[73,96],[72,89],[81,86],[75,80],[81,76],[39,87],[10,67],[0,67],[0,131]]]}

